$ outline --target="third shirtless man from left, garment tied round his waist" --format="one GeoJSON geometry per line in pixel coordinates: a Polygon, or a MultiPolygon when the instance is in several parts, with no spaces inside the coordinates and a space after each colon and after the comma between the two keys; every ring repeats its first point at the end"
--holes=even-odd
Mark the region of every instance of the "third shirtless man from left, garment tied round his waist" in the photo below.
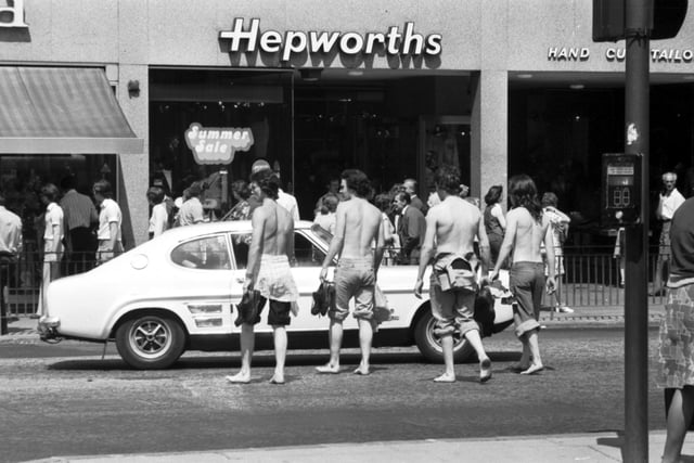
{"type": "MultiPolygon", "coordinates": [[[[441,202],[433,206],[426,215],[426,233],[420,257],[420,269],[414,284],[414,295],[422,297],[424,271],[432,258],[434,265],[442,263],[452,256],[474,254],[475,236],[479,240],[481,271],[487,274],[489,265],[489,240],[485,231],[485,221],[477,207],[458,195],[460,171],[457,167],[440,167],[435,173],[436,190],[441,202]],[[436,252],[436,255],[434,253],[436,252]]],[[[432,313],[436,319],[436,333],[441,338],[444,350],[444,374],[436,383],[455,382],[453,363],[453,333],[460,331],[473,346],[479,359],[479,381],[485,383],[491,377],[491,361],[485,352],[479,335],[479,325],[474,319],[475,296],[467,291],[442,291],[432,272],[429,285],[432,313]]]]}

